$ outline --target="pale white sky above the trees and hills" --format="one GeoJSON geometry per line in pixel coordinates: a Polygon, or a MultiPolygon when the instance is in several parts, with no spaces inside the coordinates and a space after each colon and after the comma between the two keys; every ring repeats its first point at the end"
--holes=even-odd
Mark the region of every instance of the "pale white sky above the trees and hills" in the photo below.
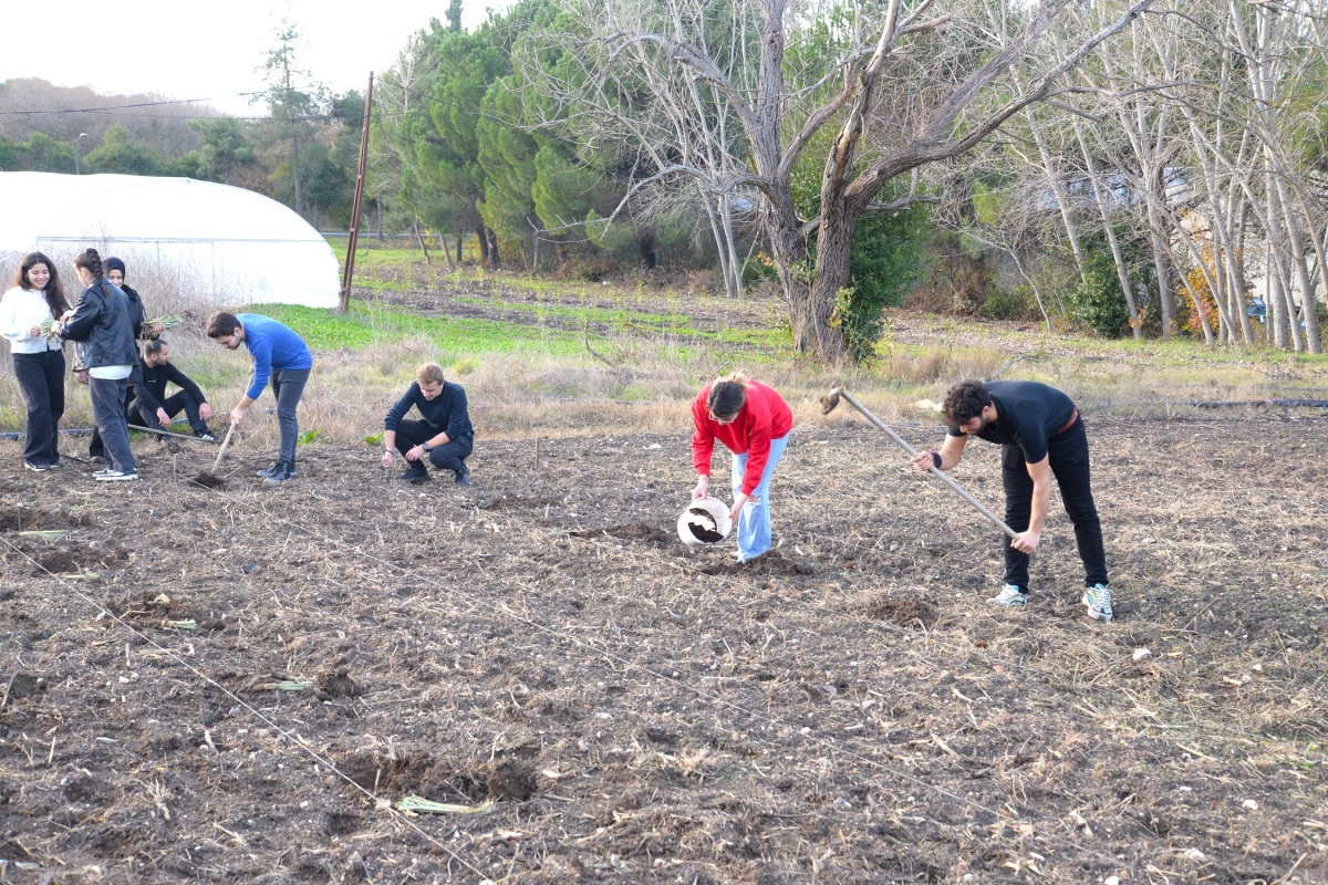
{"type": "MultiPolygon", "coordinates": [[[[218,110],[266,110],[239,93],[263,89],[259,70],[284,16],[301,41],[296,60],[335,92],[364,90],[369,72],[396,60],[406,37],[445,19],[448,0],[17,0],[5,3],[0,81],[40,77],[98,93],[158,93],[205,98],[218,110]]],[[[466,0],[474,28],[506,0],[466,0]]]]}

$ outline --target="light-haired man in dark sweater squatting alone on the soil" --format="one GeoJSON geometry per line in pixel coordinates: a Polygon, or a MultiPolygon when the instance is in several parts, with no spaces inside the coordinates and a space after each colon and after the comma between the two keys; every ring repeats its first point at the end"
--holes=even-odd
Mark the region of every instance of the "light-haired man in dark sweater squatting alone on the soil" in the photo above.
{"type": "Polygon", "coordinates": [[[461,385],[445,381],[442,366],[426,362],[416,372],[416,382],[405,395],[392,406],[382,422],[382,443],[388,451],[382,455],[382,466],[392,467],[392,450],[406,456],[409,470],[397,479],[428,482],[426,460],[438,470],[457,474],[458,486],[470,484],[470,468],[466,458],[474,448],[475,431],[470,426],[466,411],[466,391],[461,385]],[[406,418],[414,406],[424,421],[406,418]]]}

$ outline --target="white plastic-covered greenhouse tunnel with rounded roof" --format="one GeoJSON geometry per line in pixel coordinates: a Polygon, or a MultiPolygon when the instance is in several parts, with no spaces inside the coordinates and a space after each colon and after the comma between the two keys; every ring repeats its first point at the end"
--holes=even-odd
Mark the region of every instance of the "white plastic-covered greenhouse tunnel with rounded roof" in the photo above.
{"type": "Polygon", "coordinates": [[[8,273],[32,251],[64,273],[88,247],[124,259],[131,285],[174,291],[199,306],[337,304],[332,247],[262,194],[190,178],[0,172],[8,273]]]}

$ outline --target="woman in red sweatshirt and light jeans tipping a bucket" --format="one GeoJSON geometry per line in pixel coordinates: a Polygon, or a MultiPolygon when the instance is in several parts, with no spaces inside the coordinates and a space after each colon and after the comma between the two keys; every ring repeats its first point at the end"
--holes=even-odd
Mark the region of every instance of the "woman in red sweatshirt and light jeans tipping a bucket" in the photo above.
{"type": "Polygon", "coordinates": [[[745,375],[718,378],[692,403],[692,464],[697,483],[692,500],[705,498],[714,441],[733,452],[733,507],[738,524],[738,561],[770,549],[770,478],[789,444],[793,413],[774,390],[745,375]]]}

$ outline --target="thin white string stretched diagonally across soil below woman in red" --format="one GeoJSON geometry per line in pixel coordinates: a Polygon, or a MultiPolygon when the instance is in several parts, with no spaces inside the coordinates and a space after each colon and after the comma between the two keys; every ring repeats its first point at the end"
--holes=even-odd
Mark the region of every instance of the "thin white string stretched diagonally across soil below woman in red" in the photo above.
{"type": "MultiPolygon", "coordinates": [[[[239,500],[236,498],[232,498],[231,495],[228,495],[228,494],[226,494],[226,492],[223,492],[220,490],[215,490],[215,488],[206,490],[206,491],[208,491],[211,494],[215,494],[215,495],[219,495],[220,498],[224,498],[224,499],[230,500],[231,503],[238,504],[240,507],[250,507],[252,510],[258,510],[259,512],[262,512],[268,519],[272,519],[272,520],[284,523],[284,524],[287,524],[290,527],[293,527],[293,528],[304,532],[309,537],[313,537],[313,539],[316,539],[319,541],[323,541],[324,544],[333,544],[333,545],[340,547],[340,548],[351,547],[347,541],[343,541],[340,539],[335,539],[335,537],[329,537],[327,535],[321,535],[321,533],[316,532],[315,529],[308,528],[305,525],[301,525],[301,524],[299,524],[299,523],[296,523],[293,520],[286,519],[283,516],[276,516],[276,515],[271,513],[266,507],[263,507],[259,503],[247,504],[246,502],[242,502],[242,500],[239,500]]],[[[449,594],[457,596],[459,598],[463,598],[463,600],[466,600],[467,602],[470,602],[471,605],[474,605],[477,608],[485,608],[485,609],[489,609],[491,612],[501,613],[501,614],[503,614],[506,617],[510,617],[510,618],[513,618],[515,621],[519,621],[519,622],[525,624],[526,626],[534,628],[535,630],[539,630],[539,632],[543,632],[543,633],[548,633],[548,634],[555,636],[555,637],[560,637],[563,640],[567,640],[567,641],[572,642],[576,646],[587,647],[587,649],[595,651],[596,654],[600,654],[600,655],[603,655],[606,658],[610,658],[610,659],[615,661],[616,663],[622,665],[623,667],[631,667],[631,669],[639,670],[641,673],[645,673],[645,674],[648,674],[648,675],[659,679],[660,682],[665,682],[665,683],[673,685],[673,686],[676,686],[676,687],[679,687],[681,690],[687,690],[687,691],[695,694],[697,698],[700,698],[700,699],[703,699],[703,701],[705,701],[705,702],[708,702],[708,703],[710,703],[713,706],[726,707],[729,710],[737,711],[737,713],[748,716],[752,720],[765,722],[766,724],[770,724],[770,726],[789,724],[790,726],[790,734],[798,735],[798,738],[806,740],[807,743],[818,744],[818,746],[823,747],[825,750],[829,750],[830,752],[837,752],[837,754],[842,754],[845,756],[857,759],[858,762],[862,762],[862,763],[865,763],[866,766],[869,766],[871,768],[878,768],[880,771],[884,771],[886,774],[894,775],[899,780],[904,780],[904,782],[911,783],[911,784],[914,784],[916,787],[922,787],[924,789],[930,789],[932,792],[936,792],[936,793],[939,793],[942,796],[946,796],[947,799],[951,799],[951,800],[954,800],[954,801],[956,801],[956,803],[959,803],[961,805],[967,805],[967,807],[973,808],[976,811],[981,811],[981,812],[988,813],[988,815],[995,815],[997,819],[1000,817],[1000,812],[997,809],[988,808],[987,805],[983,805],[981,803],[977,803],[977,801],[975,801],[972,799],[968,799],[965,796],[960,796],[959,793],[951,792],[951,791],[946,789],[944,787],[938,787],[936,784],[928,783],[928,782],[926,782],[926,780],[923,780],[920,778],[915,778],[914,775],[910,775],[910,774],[907,774],[904,771],[899,771],[896,768],[892,768],[891,766],[887,766],[886,763],[882,763],[882,762],[878,762],[875,759],[871,759],[870,756],[859,754],[859,752],[857,752],[854,750],[849,750],[846,747],[842,747],[842,746],[834,743],[833,740],[830,740],[829,738],[821,738],[819,735],[813,735],[813,734],[806,734],[805,735],[799,730],[793,728],[790,723],[785,723],[782,719],[772,719],[772,718],[769,718],[769,716],[766,716],[764,714],[753,713],[752,710],[748,710],[746,707],[744,707],[740,703],[734,703],[732,701],[726,701],[724,698],[718,698],[718,697],[716,697],[716,695],[705,691],[704,689],[688,685],[688,683],[685,683],[685,682],[683,682],[680,679],[675,679],[673,677],[669,677],[669,675],[667,675],[664,673],[659,673],[656,670],[652,670],[648,666],[644,666],[644,665],[641,665],[639,662],[631,661],[631,659],[628,659],[628,658],[625,658],[623,655],[619,655],[619,654],[616,654],[616,653],[614,653],[611,650],[596,647],[594,644],[587,642],[582,637],[578,637],[578,636],[575,636],[572,633],[566,633],[566,632],[559,630],[556,628],[552,628],[552,626],[548,626],[548,625],[544,625],[544,624],[539,624],[538,621],[534,621],[534,620],[531,620],[531,618],[529,618],[529,617],[526,617],[523,614],[519,614],[515,610],[513,610],[513,609],[510,609],[510,608],[507,608],[505,605],[495,604],[495,602],[489,602],[486,600],[482,600],[482,598],[479,598],[477,596],[473,596],[470,593],[466,593],[463,590],[458,590],[458,589],[454,589],[452,586],[440,584],[440,582],[437,582],[432,577],[428,577],[425,575],[420,575],[417,572],[412,572],[410,569],[408,569],[408,568],[405,568],[402,565],[397,565],[396,563],[392,563],[389,560],[384,560],[384,559],[381,559],[378,556],[374,556],[373,553],[367,553],[361,548],[351,547],[351,551],[355,552],[355,553],[357,553],[359,556],[364,556],[365,559],[369,559],[369,560],[373,560],[373,561],[376,561],[376,563],[378,563],[381,565],[385,565],[389,569],[394,569],[394,571],[402,573],[406,577],[412,577],[412,579],[420,580],[424,584],[434,586],[436,589],[440,589],[444,593],[449,593],[449,594]]],[[[336,579],[323,579],[323,580],[331,580],[332,582],[340,584],[341,586],[349,586],[347,584],[343,584],[341,581],[337,581],[336,579]]],[[[531,586],[530,584],[526,584],[525,581],[521,581],[521,580],[515,580],[515,579],[510,579],[510,580],[514,584],[517,584],[518,586],[522,586],[522,588],[530,590],[531,593],[537,593],[537,594],[539,593],[539,588],[531,586]]],[[[632,713],[635,714],[635,711],[632,711],[632,713]]],[[[761,742],[761,743],[765,743],[765,744],[768,744],[770,747],[781,748],[782,750],[782,747],[780,744],[777,744],[774,740],[770,740],[769,738],[764,738],[761,735],[756,735],[754,732],[753,732],[752,736],[757,742],[761,742]]],[[[1089,848],[1089,847],[1081,845],[1081,844],[1074,843],[1074,841],[1072,841],[1069,839],[1061,837],[1061,836],[1058,836],[1058,835],[1056,835],[1053,832],[1036,831],[1036,835],[1041,836],[1045,840],[1049,840],[1049,841],[1053,841],[1053,843],[1058,843],[1062,847],[1070,848],[1070,849],[1073,849],[1076,852],[1088,852],[1089,854],[1093,854],[1098,860],[1106,861],[1109,865],[1120,865],[1122,862],[1120,858],[1117,858],[1117,857],[1114,857],[1112,854],[1105,854],[1105,853],[1102,853],[1102,852],[1100,852],[1100,851],[1097,851],[1094,848],[1089,848]]]]}

